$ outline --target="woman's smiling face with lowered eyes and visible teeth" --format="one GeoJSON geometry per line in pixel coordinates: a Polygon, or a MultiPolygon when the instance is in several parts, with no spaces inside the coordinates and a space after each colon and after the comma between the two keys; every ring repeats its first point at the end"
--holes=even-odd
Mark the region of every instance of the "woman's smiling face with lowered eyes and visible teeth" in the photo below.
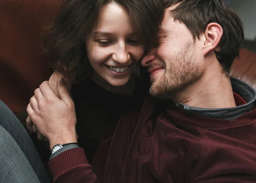
{"type": "Polygon", "coordinates": [[[144,54],[144,46],[132,29],[128,12],[117,3],[102,7],[97,29],[87,37],[89,62],[112,86],[123,86],[132,76],[132,65],[144,54]]]}

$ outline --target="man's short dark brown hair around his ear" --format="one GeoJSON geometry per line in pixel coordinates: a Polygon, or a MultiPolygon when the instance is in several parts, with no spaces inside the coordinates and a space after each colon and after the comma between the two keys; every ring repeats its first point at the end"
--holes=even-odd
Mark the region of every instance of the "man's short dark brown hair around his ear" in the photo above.
{"type": "Polygon", "coordinates": [[[166,8],[177,3],[170,13],[175,20],[186,25],[194,40],[200,38],[209,23],[218,23],[222,27],[223,35],[215,54],[223,70],[229,74],[244,40],[244,26],[238,15],[222,0],[165,0],[166,8]]]}

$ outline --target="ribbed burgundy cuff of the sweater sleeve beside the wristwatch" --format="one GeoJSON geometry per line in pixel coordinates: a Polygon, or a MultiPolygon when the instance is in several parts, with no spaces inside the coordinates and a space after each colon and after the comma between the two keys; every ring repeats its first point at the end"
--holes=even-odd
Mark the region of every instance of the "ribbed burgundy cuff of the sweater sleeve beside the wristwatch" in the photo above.
{"type": "Polygon", "coordinates": [[[53,157],[48,163],[53,177],[58,177],[68,169],[84,164],[88,164],[88,161],[83,148],[69,149],[53,157]]]}

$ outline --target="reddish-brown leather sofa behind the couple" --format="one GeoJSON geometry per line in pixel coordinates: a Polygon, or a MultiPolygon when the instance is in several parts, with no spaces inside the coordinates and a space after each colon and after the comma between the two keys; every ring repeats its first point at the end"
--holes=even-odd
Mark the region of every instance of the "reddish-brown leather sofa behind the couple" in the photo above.
{"type": "MultiPolygon", "coordinates": [[[[20,112],[34,90],[48,80],[49,62],[41,54],[41,27],[58,11],[60,0],[0,1],[0,99],[20,112]]],[[[231,76],[256,89],[256,54],[241,49],[231,76]]]]}

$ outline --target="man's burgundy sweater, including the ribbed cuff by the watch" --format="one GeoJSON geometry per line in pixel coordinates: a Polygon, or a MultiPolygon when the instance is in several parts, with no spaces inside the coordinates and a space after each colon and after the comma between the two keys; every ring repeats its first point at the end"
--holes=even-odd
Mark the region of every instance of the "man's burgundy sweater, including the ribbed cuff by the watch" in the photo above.
{"type": "Polygon", "coordinates": [[[82,148],[67,150],[48,165],[55,183],[253,183],[256,110],[221,120],[148,97],[141,109],[122,113],[91,165],[82,148]]]}

